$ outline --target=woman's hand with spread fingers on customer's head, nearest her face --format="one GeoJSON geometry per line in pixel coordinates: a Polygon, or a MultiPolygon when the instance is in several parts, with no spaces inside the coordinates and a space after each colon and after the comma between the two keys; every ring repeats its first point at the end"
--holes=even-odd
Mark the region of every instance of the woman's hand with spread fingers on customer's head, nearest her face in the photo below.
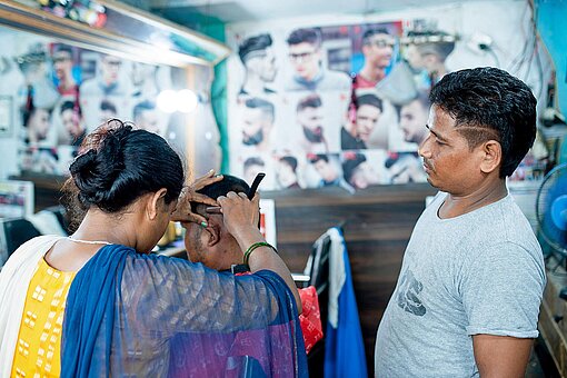
{"type": "Polygon", "coordinates": [[[171,220],[181,222],[207,223],[207,219],[203,216],[191,211],[191,202],[198,202],[208,206],[218,206],[219,203],[216,200],[198,193],[197,190],[200,190],[211,183],[221,181],[222,179],[223,179],[222,175],[216,176],[215,170],[211,169],[207,175],[198,178],[190,186],[185,187],[181,193],[179,195],[177,208],[176,211],[173,211],[173,213],[171,215],[171,220]]]}

